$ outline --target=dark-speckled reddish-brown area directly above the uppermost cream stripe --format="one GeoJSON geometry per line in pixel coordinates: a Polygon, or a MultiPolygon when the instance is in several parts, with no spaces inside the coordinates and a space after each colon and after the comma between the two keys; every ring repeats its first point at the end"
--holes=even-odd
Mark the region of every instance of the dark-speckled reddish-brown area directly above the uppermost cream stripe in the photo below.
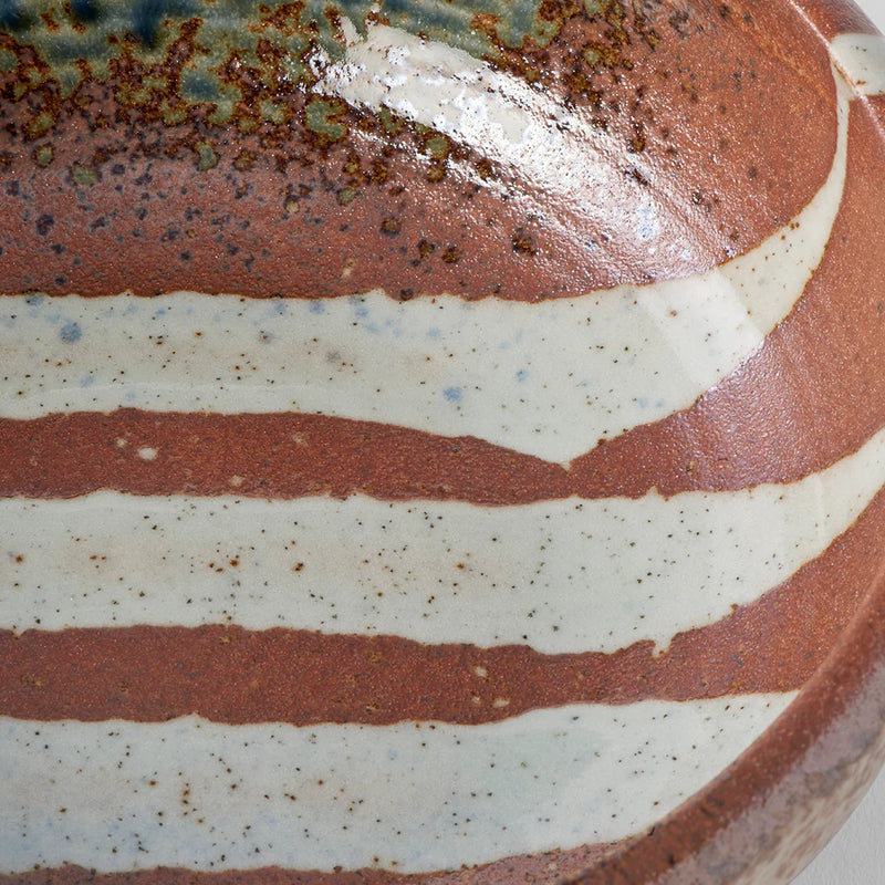
{"type": "Polygon", "coordinates": [[[589,184],[580,210],[434,132],[393,133],[312,95],[274,73],[272,53],[260,76],[225,67],[242,101],[217,125],[210,104],[178,93],[205,39],[192,29],[157,48],[154,69],[123,59],[64,101],[52,60],[0,35],[19,60],[0,72],[2,285],[539,300],[706,270],[785,225],[824,181],[836,133],[825,46],[780,6],[625,6],[587,18],[550,0],[549,46],[527,37],[490,53],[592,118],[602,146],[589,149],[612,188],[601,199],[589,184]],[[618,230],[613,219],[646,198],[659,230],[618,230]]]}

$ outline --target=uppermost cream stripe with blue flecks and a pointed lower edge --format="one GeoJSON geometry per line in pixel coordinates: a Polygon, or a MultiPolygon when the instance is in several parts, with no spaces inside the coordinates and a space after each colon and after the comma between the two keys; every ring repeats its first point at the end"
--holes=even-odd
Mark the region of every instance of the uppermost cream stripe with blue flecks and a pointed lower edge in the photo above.
{"type": "Polygon", "coordinates": [[[709,273],[541,304],[400,304],[382,292],[314,302],[6,296],[0,415],[323,413],[568,462],[689,406],[789,313],[842,194],[846,88],[840,95],[839,148],[814,201],[709,273]]]}

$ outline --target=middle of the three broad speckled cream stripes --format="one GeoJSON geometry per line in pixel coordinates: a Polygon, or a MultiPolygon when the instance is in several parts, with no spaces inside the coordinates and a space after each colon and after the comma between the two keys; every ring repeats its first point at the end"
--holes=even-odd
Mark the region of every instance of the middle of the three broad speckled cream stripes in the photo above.
{"type": "Polygon", "coordinates": [[[790,486],[670,499],[7,499],[0,626],[233,622],[551,654],[667,646],[818,556],[883,483],[885,431],[790,486]]]}

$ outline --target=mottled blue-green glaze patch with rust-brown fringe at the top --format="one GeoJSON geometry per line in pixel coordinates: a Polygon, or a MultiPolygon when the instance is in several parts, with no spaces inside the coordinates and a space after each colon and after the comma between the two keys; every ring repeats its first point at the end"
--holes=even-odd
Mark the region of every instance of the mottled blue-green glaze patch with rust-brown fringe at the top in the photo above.
{"type": "Polygon", "coordinates": [[[570,88],[589,93],[590,69],[622,60],[625,15],[622,0],[0,0],[0,86],[13,103],[32,96],[29,139],[53,128],[61,103],[88,103],[86,84],[98,82],[149,123],[177,126],[197,115],[243,134],[278,127],[283,137],[298,116],[306,139],[324,147],[348,124],[337,108],[312,106],[310,93],[330,63],[343,61],[346,35],[365,37],[372,23],[538,82],[545,48],[573,19],[590,19],[596,39],[585,37],[577,56],[586,70],[566,74],[570,88]]]}

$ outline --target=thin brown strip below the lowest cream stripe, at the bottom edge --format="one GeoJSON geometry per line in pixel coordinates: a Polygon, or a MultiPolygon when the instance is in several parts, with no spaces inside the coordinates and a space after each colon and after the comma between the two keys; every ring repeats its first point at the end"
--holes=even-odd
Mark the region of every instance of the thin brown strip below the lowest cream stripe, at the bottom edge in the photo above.
{"type": "Polygon", "coordinates": [[[157,867],[125,873],[98,873],[65,865],[0,874],[0,885],[501,885],[531,883],[554,885],[586,870],[594,861],[622,843],[584,845],[570,851],[523,854],[481,866],[407,875],[388,870],[336,870],[331,873],[262,867],[219,873],[157,867]]]}

